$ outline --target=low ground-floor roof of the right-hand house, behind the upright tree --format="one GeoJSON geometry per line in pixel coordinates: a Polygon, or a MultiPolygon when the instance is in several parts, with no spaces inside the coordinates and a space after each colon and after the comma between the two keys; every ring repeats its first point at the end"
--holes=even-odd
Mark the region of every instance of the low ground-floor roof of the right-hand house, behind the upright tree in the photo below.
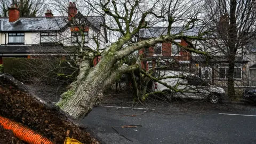
{"type": "MultiPolygon", "coordinates": [[[[206,57],[205,56],[193,56],[192,57],[192,60],[193,61],[196,61],[196,62],[203,62],[203,61],[206,61],[206,57]]],[[[209,59],[209,62],[228,62],[228,59],[227,57],[225,56],[215,56],[215,57],[212,57],[209,59]]],[[[245,60],[243,57],[235,57],[235,62],[239,62],[239,63],[247,63],[249,61],[245,60]]]]}

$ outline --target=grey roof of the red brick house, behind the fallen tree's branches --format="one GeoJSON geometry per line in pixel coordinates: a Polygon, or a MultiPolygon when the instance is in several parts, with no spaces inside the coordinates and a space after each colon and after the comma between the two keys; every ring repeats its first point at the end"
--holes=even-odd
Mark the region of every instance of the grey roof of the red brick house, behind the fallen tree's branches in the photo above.
{"type": "MultiPolygon", "coordinates": [[[[202,31],[202,27],[193,27],[192,29],[186,30],[185,27],[172,27],[171,34],[180,34],[183,32],[186,36],[196,36],[202,31]]],[[[153,38],[167,34],[168,27],[150,27],[143,28],[139,31],[139,37],[141,38],[153,38]]]]}

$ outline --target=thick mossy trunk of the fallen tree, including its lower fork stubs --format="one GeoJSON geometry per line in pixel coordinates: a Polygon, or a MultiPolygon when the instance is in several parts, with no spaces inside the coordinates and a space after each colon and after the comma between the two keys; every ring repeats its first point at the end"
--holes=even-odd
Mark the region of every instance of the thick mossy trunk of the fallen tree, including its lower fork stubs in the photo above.
{"type": "Polygon", "coordinates": [[[99,104],[103,91],[120,79],[123,73],[138,68],[138,65],[117,66],[114,65],[115,62],[113,53],[109,53],[104,55],[93,68],[89,68],[86,62],[81,63],[83,67],[80,68],[77,81],[73,82],[69,90],[62,94],[62,99],[57,106],[76,119],[85,117],[93,106],[99,104]]]}

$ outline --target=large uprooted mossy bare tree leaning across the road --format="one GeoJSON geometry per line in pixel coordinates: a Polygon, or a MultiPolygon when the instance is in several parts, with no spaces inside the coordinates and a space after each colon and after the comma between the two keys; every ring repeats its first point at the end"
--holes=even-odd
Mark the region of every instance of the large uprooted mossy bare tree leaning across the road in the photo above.
{"type": "MultiPolygon", "coordinates": [[[[203,55],[207,52],[198,51],[190,41],[204,39],[203,34],[186,36],[184,33],[200,21],[203,4],[201,1],[80,1],[78,8],[105,17],[106,23],[101,26],[108,29],[110,45],[106,49],[100,49],[97,39],[95,50],[84,49],[84,43],[75,46],[76,62],[79,74],[76,81],[71,83],[69,90],[62,94],[57,105],[75,118],[83,118],[93,106],[98,105],[105,91],[111,84],[116,82],[122,74],[140,69],[141,74],[153,78],[157,82],[166,85],[171,90],[179,92],[175,87],[168,86],[141,69],[141,55],[136,57],[136,62],[127,63],[125,58],[136,53],[140,49],[148,48],[157,43],[171,42],[179,45],[182,49],[203,55]],[[166,26],[167,33],[144,41],[134,41],[141,29],[152,26],[166,26]],[[181,26],[179,31],[172,33],[172,26],[181,26]],[[175,39],[185,39],[188,46],[182,46],[175,39]],[[101,56],[101,60],[95,67],[91,61],[101,56]]],[[[66,10],[66,4],[62,1],[53,3],[56,9],[66,10]],[[62,5],[62,6],[61,6],[62,5]],[[58,8],[57,8],[58,7],[58,8]],[[63,8],[63,9],[62,9],[63,8]]],[[[83,29],[85,25],[75,19],[71,21],[71,28],[78,27],[82,39],[85,37],[83,29]]]]}

